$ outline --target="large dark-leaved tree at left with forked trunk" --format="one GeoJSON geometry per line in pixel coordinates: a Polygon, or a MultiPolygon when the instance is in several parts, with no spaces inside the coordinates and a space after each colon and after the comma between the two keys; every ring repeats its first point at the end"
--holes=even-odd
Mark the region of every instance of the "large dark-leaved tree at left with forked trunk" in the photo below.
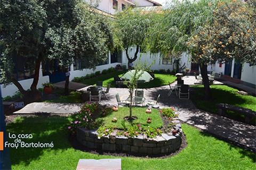
{"type": "MultiPolygon", "coordinates": [[[[41,62],[58,59],[67,67],[82,59],[91,68],[105,60],[110,32],[99,15],[82,1],[1,1],[0,2],[0,82],[13,83],[27,102],[41,99],[37,90],[41,62]],[[98,22],[99,21],[99,22],[98,22]],[[104,33],[107,34],[104,34],[104,33]],[[33,83],[25,90],[15,74],[15,61],[22,61],[33,73],[33,83]]],[[[109,39],[110,37],[110,39],[109,39]]]]}

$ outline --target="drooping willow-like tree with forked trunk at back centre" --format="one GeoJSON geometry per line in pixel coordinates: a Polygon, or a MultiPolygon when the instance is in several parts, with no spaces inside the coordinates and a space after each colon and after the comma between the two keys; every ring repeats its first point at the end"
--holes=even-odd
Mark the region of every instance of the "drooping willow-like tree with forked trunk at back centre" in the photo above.
{"type": "Polygon", "coordinates": [[[138,58],[140,47],[145,48],[145,40],[151,24],[149,15],[138,9],[130,8],[115,15],[113,19],[115,48],[125,50],[129,67],[138,58]],[[129,56],[130,47],[135,47],[133,56],[129,56]]]}

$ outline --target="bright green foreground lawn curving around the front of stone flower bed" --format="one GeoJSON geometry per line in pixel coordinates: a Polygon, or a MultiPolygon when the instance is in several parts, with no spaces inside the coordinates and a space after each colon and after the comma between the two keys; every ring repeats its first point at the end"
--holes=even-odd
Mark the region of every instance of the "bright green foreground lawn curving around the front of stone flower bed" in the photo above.
{"type": "Polygon", "coordinates": [[[75,150],[68,140],[68,117],[20,118],[7,125],[10,133],[31,133],[29,142],[51,142],[52,149],[11,149],[12,169],[75,169],[79,159],[121,158],[122,169],[256,169],[255,154],[182,124],[187,148],[169,158],[96,155],[75,150]]]}

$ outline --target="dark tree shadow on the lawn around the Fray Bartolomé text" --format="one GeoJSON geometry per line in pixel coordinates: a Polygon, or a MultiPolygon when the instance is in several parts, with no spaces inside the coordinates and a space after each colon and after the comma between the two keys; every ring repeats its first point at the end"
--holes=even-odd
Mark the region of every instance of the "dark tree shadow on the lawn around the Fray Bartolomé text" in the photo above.
{"type": "MultiPolygon", "coordinates": [[[[53,148],[12,148],[10,157],[12,165],[23,163],[30,164],[31,161],[39,159],[45,151],[58,151],[71,148],[68,141],[68,117],[61,116],[35,116],[19,117],[15,123],[7,125],[6,130],[11,134],[33,134],[33,139],[22,140],[25,143],[40,142],[51,143],[53,148]]],[[[9,142],[13,142],[9,139],[9,142]]],[[[53,153],[54,154],[54,153],[53,153]]]]}

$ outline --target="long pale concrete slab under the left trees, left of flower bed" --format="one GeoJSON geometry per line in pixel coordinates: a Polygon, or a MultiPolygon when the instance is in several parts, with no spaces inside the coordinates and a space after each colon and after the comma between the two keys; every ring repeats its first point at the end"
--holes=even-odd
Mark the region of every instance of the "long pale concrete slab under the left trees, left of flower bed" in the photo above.
{"type": "Polygon", "coordinates": [[[13,114],[74,114],[81,108],[81,103],[30,103],[13,114]]]}

